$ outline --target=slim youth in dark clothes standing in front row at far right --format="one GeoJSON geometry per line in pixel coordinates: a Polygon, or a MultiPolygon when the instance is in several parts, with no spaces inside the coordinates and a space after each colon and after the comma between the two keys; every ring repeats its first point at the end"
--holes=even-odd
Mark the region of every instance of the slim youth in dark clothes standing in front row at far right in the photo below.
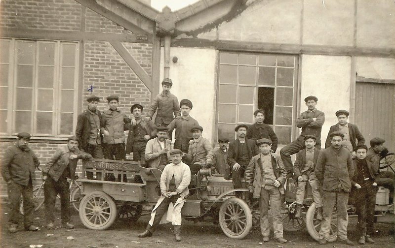
{"type": "Polygon", "coordinates": [[[355,172],[351,183],[356,188],[354,197],[358,215],[358,223],[356,224],[356,231],[359,235],[358,243],[361,245],[366,242],[372,244],[374,241],[370,238],[370,235],[374,232],[374,209],[378,190],[375,178],[378,174],[373,170],[373,164],[366,160],[367,147],[358,144],[355,150],[355,172]]]}

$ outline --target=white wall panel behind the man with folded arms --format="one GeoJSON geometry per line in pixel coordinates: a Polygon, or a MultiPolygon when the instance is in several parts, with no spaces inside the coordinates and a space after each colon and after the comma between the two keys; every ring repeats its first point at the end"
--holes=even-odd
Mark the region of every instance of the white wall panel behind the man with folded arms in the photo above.
{"type": "Polygon", "coordinates": [[[317,109],[325,113],[321,131],[321,148],[331,125],[336,124],[335,112],[350,110],[351,57],[302,55],[301,112],[306,111],[305,97],[318,98],[317,109]]]}

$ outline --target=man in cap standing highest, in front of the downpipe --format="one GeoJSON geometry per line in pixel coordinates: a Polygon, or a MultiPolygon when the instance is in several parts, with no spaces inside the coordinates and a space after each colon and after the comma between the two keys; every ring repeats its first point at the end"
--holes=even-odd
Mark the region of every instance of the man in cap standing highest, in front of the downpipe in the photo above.
{"type": "MultiPolygon", "coordinates": [[[[170,89],[173,86],[170,78],[165,78],[162,81],[163,91],[159,93],[152,101],[152,104],[148,110],[146,120],[152,120],[155,112],[158,109],[157,117],[155,118],[155,125],[157,126],[168,126],[171,121],[181,116],[181,109],[178,104],[177,96],[170,93],[170,89]],[[174,114],[174,117],[173,117],[174,114]]],[[[169,139],[171,140],[172,132],[169,133],[169,139]]]]}

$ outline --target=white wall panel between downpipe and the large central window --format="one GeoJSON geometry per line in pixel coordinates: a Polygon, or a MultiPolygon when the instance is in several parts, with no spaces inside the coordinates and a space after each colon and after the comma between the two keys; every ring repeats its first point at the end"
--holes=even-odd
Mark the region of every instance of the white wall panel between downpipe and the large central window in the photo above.
{"type": "MultiPolygon", "coordinates": [[[[217,88],[217,51],[199,48],[170,48],[170,79],[173,87],[170,92],[179,101],[188,98],[193,103],[191,116],[203,127],[203,137],[214,144],[215,107],[217,88]],[[178,61],[172,62],[176,56],[178,61]]],[[[160,56],[160,82],[163,80],[164,50],[160,56]]],[[[159,89],[162,86],[159,82],[159,89]]],[[[173,132],[174,134],[174,132],[173,132]]]]}

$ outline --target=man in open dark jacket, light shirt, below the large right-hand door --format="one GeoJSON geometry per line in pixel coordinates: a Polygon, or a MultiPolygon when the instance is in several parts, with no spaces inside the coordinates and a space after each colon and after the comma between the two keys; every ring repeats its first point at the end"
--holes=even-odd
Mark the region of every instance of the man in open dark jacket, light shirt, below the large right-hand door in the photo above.
{"type": "Polygon", "coordinates": [[[330,127],[325,142],[325,148],[328,148],[331,145],[329,134],[334,131],[340,131],[344,134],[343,147],[350,151],[354,159],[356,158],[356,145],[365,144],[365,138],[363,138],[362,133],[359,131],[356,125],[347,122],[349,115],[350,113],[344,109],[336,111],[336,116],[339,123],[330,127]]]}

